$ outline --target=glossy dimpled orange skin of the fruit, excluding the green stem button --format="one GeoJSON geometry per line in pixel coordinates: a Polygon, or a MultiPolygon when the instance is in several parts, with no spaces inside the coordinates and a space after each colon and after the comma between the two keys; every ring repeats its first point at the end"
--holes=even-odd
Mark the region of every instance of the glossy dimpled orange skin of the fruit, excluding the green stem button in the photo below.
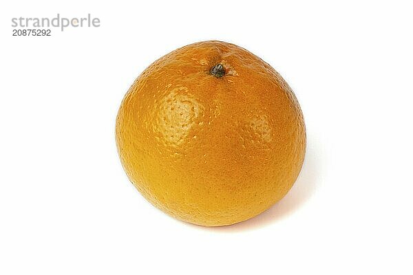
{"type": "Polygon", "coordinates": [[[293,91],[237,45],[204,41],[155,61],[116,119],[120,160],[154,206],[198,225],[231,225],[282,199],[304,161],[293,91]],[[224,65],[224,76],[211,68],[224,65]]]}

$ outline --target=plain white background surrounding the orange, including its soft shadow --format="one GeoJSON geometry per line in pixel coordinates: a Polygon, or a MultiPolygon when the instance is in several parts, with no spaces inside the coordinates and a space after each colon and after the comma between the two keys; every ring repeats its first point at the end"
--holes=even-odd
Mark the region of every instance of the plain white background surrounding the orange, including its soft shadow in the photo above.
{"type": "Polygon", "coordinates": [[[409,1],[172,2],[1,3],[0,274],[412,274],[409,1]],[[12,36],[58,12],[101,26],[12,36]],[[288,195],[223,228],[153,208],[114,140],[134,78],[210,39],[273,65],[308,131],[288,195]]]}

